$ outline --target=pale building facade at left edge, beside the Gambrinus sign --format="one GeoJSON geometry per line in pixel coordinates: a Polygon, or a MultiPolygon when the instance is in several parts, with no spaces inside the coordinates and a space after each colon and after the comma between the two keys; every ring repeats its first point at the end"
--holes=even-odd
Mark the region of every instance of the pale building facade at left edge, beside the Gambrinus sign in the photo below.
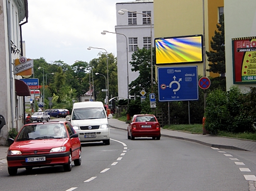
{"type": "Polygon", "coordinates": [[[27,13],[27,0],[0,0],[0,115],[6,122],[0,145],[6,144],[10,129],[20,130],[24,124],[24,97],[16,90],[21,77],[15,76],[13,69],[15,59],[22,55],[20,28],[27,22],[27,13]]]}

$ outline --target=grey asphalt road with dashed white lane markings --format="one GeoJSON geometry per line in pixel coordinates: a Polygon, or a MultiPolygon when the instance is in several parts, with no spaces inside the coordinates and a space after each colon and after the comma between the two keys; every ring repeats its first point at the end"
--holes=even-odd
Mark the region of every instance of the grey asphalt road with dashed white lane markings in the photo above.
{"type": "Polygon", "coordinates": [[[110,129],[110,145],[83,144],[83,162],[71,172],[62,167],[0,169],[0,190],[249,190],[236,165],[256,173],[254,152],[221,150],[161,137],[128,140],[124,130],[110,129]],[[232,157],[231,157],[231,156],[232,157]]]}

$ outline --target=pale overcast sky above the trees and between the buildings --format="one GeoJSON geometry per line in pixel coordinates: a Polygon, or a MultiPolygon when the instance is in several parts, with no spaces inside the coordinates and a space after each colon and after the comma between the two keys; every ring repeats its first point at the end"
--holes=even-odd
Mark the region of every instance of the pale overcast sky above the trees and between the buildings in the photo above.
{"type": "Polygon", "coordinates": [[[132,0],[28,0],[28,23],[22,26],[26,57],[48,63],[90,62],[104,48],[117,56],[115,3],[132,0]]]}

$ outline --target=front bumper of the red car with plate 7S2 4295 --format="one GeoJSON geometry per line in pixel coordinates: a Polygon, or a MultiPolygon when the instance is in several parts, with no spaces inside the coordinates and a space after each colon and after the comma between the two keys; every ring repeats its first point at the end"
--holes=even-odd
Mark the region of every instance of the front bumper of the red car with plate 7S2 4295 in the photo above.
{"type": "Polygon", "coordinates": [[[27,167],[46,167],[54,165],[64,165],[69,162],[70,152],[38,154],[38,155],[15,155],[7,156],[7,164],[9,168],[27,168],[27,167]],[[46,157],[45,161],[26,162],[28,157],[46,157]]]}

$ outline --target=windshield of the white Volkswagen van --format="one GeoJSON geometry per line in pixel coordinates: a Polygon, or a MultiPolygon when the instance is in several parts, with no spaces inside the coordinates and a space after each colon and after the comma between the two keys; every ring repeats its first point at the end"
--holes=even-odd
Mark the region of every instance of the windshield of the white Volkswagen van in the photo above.
{"type": "Polygon", "coordinates": [[[104,108],[78,108],[74,109],[72,119],[103,119],[106,118],[104,108]]]}

